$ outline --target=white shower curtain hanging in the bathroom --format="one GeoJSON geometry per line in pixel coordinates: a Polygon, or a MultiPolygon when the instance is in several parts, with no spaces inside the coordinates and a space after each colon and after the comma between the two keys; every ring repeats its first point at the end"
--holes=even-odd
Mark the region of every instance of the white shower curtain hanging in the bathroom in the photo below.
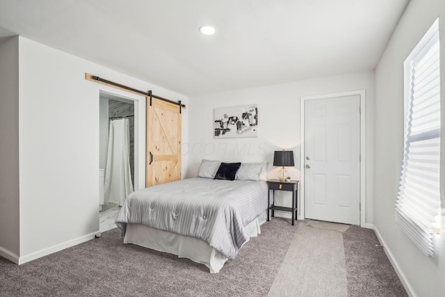
{"type": "Polygon", "coordinates": [[[122,205],[133,192],[129,134],[128,119],[111,120],[104,182],[105,202],[122,205]]]}

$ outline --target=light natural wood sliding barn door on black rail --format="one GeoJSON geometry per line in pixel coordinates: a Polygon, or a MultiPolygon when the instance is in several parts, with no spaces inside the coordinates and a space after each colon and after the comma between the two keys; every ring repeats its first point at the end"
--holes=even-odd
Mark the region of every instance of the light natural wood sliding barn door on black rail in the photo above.
{"type": "Polygon", "coordinates": [[[147,97],[146,160],[145,186],[181,179],[181,110],[177,104],[147,97]]]}

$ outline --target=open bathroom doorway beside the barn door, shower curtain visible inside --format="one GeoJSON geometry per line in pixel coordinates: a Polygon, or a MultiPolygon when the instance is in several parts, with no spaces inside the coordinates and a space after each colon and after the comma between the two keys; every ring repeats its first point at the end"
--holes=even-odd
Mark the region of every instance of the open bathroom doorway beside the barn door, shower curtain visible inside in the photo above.
{"type": "Polygon", "coordinates": [[[140,161],[144,159],[139,155],[140,142],[145,143],[145,139],[140,139],[140,111],[145,111],[145,97],[136,99],[104,91],[99,93],[100,232],[116,227],[114,220],[124,200],[139,188],[140,161]],[[121,147],[119,143],[123,143],[121,147]],[[123,165],[116,157],[122,158],[123,165]],[[118,172],[113,171],[116,166],[118,172]]]}

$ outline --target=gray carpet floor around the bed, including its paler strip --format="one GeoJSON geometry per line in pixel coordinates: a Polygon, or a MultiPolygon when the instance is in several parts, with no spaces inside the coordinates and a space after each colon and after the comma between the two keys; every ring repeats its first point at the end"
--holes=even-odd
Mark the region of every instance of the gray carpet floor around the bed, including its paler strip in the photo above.
{"type": "Polygon", "coordinates": [[[115,229],[20,266],[0,257],[0,296],[406,296],[372,230],[332,226],[273,218],[216,274],[115,229]]]}

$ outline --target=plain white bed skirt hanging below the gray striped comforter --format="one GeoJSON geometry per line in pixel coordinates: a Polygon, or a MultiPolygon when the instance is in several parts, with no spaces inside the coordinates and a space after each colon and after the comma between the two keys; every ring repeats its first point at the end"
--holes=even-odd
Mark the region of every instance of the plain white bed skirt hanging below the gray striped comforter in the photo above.
{"type": "MultiPolygon", "coordinates": [[[[266,212],[245,227],[250,237],[261,233],[260,225],[266,222],[266,212]]],[[[227,258],[201,239],[157,230],[140,224],[127,224],[124,243],[133,243],[160,252],[169,252],[179,258],[188,258],[218,273],[227,258]]]]}

